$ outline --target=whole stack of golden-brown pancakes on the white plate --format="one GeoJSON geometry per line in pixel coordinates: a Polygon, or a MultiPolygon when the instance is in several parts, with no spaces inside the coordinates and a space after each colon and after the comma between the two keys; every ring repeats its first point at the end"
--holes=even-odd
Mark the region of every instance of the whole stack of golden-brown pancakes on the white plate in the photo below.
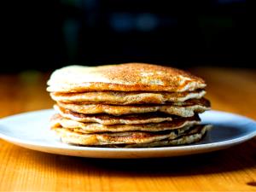
{"type": "Polygon", "coordinates": [[[143,63],[63,67],[47,90],[55,100],[51,128],[64,143],[158,147],[195,143],[210,125],[205,82],[172,67],[143,63]]]}

